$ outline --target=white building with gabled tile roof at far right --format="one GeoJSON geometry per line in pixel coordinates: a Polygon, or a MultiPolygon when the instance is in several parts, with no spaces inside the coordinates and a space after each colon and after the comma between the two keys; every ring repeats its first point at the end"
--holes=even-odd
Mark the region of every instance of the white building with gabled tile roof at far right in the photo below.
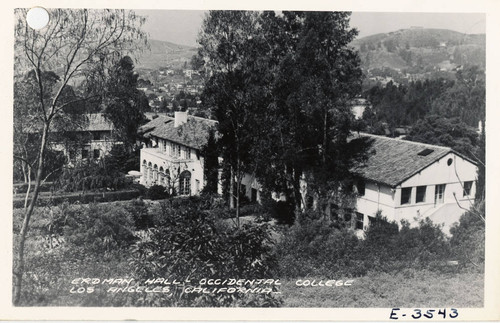
{"type": "Polygon", "coordinates": [[[451,148],[364,134],[356,141],[367,147],[366,161],[351,169],[359,227],[381,211],[398,223],[429,217],[447,232],[474,203],[476,164],[451,148]]]}

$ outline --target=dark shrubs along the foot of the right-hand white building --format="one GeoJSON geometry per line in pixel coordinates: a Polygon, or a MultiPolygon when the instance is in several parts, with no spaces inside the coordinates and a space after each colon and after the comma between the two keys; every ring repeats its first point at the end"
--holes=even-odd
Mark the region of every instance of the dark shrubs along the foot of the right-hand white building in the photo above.
{"type": "Polygon", "coordinates": [[[276,246],[279,274],[359,277],[370,271],[442,270],[441,265],[450,258],[447,238],[428,218],[416,227],[403,221],[398,230],[396,223],[379,216],[364,239],[350,227],[339,227],[318,212],[305,212],[276,246]]]}

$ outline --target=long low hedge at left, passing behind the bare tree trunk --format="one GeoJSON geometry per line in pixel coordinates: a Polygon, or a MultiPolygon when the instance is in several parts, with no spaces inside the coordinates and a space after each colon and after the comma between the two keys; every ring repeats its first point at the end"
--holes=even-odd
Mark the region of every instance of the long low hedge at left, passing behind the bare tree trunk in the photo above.
{"type": "MultiPolygon", "coordinates": [[[[37,206],[45,206],[48,204],[60,204],[64,201],[69,203],[74,203],[76,201],[82,204],[88,204],[92,202],[113,202],[113,201],[124,201],[131,200],[141,196],[139,190],[125,190],[125,191],[115,191],[115,192],[91,192],[91,193],[71,193],[64,195],[54,195],[54,196],[39,196],[37,201],[37,206]]],[[[13,201],[14,208],[24,207],[24,198],[15,199],[13,201]]]]}

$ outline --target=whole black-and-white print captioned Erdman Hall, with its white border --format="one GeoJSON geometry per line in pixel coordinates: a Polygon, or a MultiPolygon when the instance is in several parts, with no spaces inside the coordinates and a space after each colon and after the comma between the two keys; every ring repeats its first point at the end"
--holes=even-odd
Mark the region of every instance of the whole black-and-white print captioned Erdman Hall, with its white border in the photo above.
{"type": "Polygon", "coordinates": [[[491,310],[487,12],[231,9],[11,10],[6,303],[491,310]]]}

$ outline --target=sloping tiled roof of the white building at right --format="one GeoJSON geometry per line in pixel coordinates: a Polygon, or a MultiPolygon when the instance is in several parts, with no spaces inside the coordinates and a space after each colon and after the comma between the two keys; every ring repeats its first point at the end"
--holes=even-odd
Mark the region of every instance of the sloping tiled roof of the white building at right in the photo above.
{"type": "Polygon", "coordinates": [[[366,145],[367,158],[354,165],[351,171],[366,180],[391,187],[401,184],[447,154],[455,153],[448,147],[368,134],[351,139],[351,143],[356,142],[366,145]]]}

